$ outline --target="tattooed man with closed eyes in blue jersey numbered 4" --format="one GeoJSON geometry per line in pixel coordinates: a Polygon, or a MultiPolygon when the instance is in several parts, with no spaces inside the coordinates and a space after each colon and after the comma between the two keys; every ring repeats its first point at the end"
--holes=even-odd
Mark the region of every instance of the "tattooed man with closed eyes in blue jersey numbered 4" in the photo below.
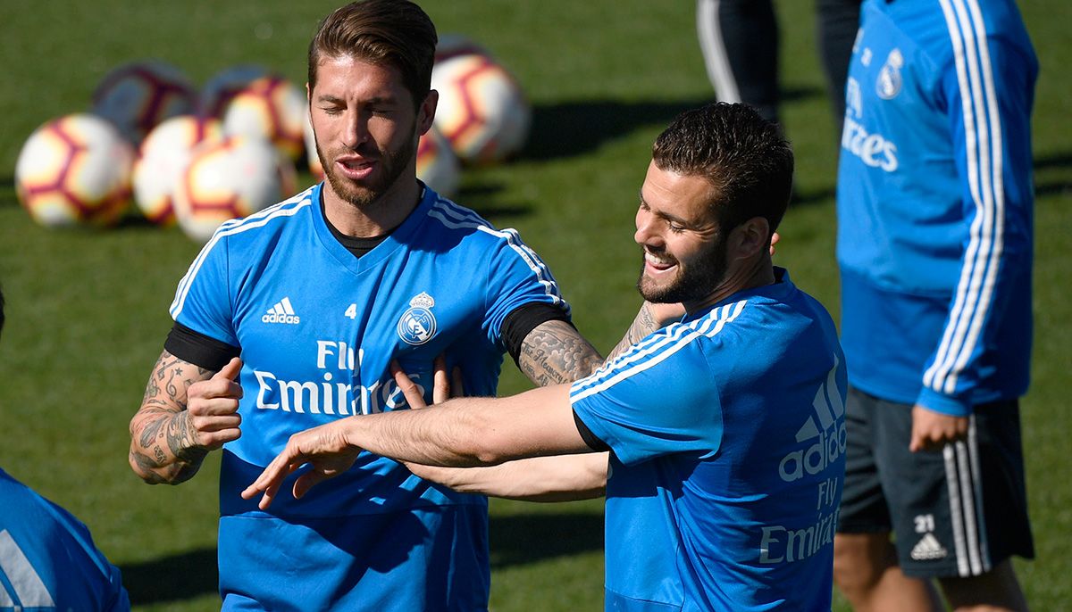
{"type": "Polygon", "coordinates": [[[437,102],[435,45],[431,20],[404,0],[329,15],[308,82],[326,182],[223,224],[179,282],[131,420],[130,463],[149,483],[177,484],[222,447],[226,610],[487,609],[483,496],[368,453],[270,511],[239,492],[292,433],[406,408],[392,359],[431,388],[445,354],[482,395],[494,395],[504,352],[541,384],[600,361],[516,231],[416,179],[437,102]]]}

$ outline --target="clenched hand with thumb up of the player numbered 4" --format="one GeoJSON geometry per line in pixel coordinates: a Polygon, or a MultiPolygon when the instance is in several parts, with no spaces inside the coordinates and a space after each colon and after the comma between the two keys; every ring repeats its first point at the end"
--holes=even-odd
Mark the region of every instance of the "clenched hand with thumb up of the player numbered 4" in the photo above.
{"type": "Polygon", "coordinates": [[[190,385],[187,392],[187,419],[197,446],[215,450],[242,434],[238,400],[242,386],[235,382],[242,361],[234,357],[212,378],[190,385]]]}

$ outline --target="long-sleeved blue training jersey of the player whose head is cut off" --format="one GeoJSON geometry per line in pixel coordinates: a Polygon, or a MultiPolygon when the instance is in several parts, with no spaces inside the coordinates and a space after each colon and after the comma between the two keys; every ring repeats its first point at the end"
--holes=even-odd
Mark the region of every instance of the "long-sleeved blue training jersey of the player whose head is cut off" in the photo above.
{"type": "Polygon", "coordinates": [[[1012,0],[863,3],[837,187],[854,386],[958,415],[1026,392],[1037,75],[1012,0]]]}

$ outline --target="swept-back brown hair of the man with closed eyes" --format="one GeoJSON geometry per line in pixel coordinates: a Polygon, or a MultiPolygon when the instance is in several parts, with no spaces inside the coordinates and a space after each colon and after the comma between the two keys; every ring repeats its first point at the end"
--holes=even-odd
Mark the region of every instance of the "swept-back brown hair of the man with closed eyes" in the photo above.
{"type": "Polygon", "coordinates": [[[351,2],[325,17],[309,44],[309,90],[322,57],[352,57],[398,68],[419,106],[432,89],[437,42],[432,19],[408,0],[351,2]]]}

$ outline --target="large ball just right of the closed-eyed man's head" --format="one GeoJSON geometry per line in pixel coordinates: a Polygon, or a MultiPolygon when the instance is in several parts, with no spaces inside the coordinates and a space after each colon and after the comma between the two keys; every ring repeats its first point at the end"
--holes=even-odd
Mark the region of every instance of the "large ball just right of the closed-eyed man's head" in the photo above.
{"type": "Polygon", "coordinates": [[[435,126],[464,164],[487,165],[516,154],[528,138],[532,107],[506,68],[486,55],[435,64],[435,126]]]}

